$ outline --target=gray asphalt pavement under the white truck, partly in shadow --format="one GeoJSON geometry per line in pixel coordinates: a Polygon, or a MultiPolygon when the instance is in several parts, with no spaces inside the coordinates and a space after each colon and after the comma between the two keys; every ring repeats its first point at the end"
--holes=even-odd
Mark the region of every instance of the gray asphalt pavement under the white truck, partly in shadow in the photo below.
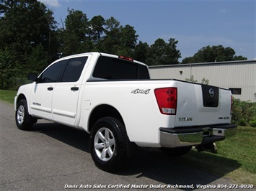
{"type": "Polygon", "coordinates": [[[123,172],[103,172],[92,161],[86,132],[44,120],[21,131],[13,106],[0,101],[0,107],[0,190],[190,190],[230,184],[196,169],[186,157],[169,158],[158,149],[141,149],[123,172]]]}

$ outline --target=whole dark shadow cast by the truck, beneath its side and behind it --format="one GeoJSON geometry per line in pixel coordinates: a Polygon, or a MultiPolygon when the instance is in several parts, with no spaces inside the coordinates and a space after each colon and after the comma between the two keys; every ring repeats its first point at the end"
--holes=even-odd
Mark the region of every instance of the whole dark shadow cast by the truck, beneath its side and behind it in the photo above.
{"type": "MultiPolygon", "coordinates": [[[[89,134],[85,131],[47,121],[35,124],[31,131],[45,134],[89,154],[89,134]]],[[[159,149],[147,148],[139,149],[138,154],[129,159],[127,163],[128,167],[115,174],[131,175],[136,178],[146,177],[156,182],[162,182],[164,185],[211,185],[211,182],[241,167],[239,162],[215,154],[191,151],[182,157],[167,157],[159,149]],[[221,170],[217,169],[221,163],[224,163],[226,167],[221,170]],[[209,166],[213,167],[209,169],[209,166]]]]}

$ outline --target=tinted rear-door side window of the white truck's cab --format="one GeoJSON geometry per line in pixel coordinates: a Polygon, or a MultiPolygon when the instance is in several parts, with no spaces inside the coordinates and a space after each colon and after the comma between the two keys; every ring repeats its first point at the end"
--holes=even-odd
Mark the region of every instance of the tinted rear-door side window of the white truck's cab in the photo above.
{"type": "Polygon", "coordinates": [[[63,73],[61,82],[76,82],[79,80],[81,72],[84,69],[85,62],[87,62],[87,57],[76,57],[70,59],[63,73]]]}

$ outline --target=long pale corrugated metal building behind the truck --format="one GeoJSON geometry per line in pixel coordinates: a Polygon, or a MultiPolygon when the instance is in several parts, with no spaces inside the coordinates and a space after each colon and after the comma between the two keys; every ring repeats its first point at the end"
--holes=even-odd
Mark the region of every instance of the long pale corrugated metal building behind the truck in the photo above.
{"type": "Polygon", "coordinates": [[[256,60],[149,66],[152,79],[185,80],[193,75],[197,83],[231,90],[234,98],[256,102],[256,60]]]}

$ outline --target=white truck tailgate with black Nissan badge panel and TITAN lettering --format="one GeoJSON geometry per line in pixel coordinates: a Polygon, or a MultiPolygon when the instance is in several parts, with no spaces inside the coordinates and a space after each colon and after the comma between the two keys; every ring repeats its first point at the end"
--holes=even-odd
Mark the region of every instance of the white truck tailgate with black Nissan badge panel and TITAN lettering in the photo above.
{"type": "Polygon", "coordinates": [[[229,124],[231,93],[211,85],[177,81],[175,127],[229,124]]]}

